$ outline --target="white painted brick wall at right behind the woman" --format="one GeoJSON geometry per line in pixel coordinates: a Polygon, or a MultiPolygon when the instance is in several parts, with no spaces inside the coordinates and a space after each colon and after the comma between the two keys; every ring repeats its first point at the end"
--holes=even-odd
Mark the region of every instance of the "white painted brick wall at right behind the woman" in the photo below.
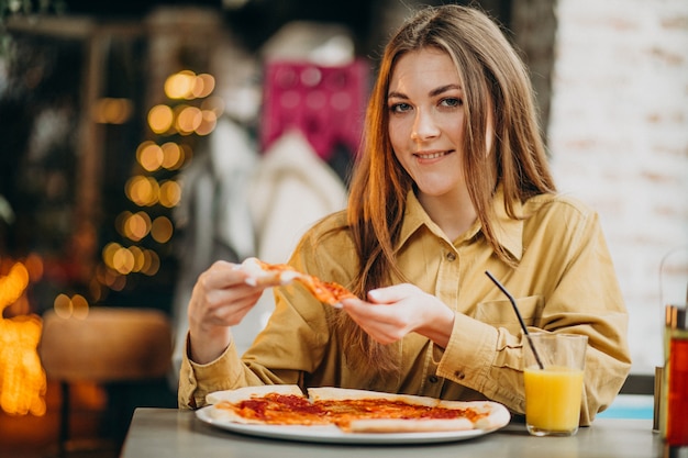
{"type": "Polygon", "coordinates": [[[688,246],[688,1],[558,0],[556,16],[554,172],[600,212],[631,316],[632,372],[653,373],[659,264],[688,246]]]}

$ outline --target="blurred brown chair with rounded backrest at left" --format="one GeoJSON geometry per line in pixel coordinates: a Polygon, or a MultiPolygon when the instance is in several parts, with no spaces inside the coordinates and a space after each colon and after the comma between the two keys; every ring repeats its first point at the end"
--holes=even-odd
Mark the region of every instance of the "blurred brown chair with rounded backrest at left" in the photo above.
{"type": "Polygon", "coordinates": [[[46,376],[59,382],[60,457],[69,440],[69,386],[74,382],[134,382],[164,378],[171,361],[171,325],[152,309],[91,308],[85,319],[43,316],[38,354],[46,376]]]}

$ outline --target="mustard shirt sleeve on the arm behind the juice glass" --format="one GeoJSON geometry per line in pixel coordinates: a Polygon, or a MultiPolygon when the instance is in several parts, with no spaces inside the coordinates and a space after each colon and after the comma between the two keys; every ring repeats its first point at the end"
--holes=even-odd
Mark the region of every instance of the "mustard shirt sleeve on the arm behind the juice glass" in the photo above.
{"type": "MultiPolygon", "coordinates": [[[[511,290],[513,286],[522,295],[542,294],[544,305],[529,325],[532,332],[588,336],[580,424],[589,425],[619,393],[631,360],[628,313],[611,257],[597,214],[584,216],[576,224],[568,219],[553,227],[551,237],[556,241],[558,236],[561,255],[556,261],[541,256],[539,262],[519,266],[511,276],[517,280],[506,287],[511,290]],[[533,281],[521,278],[519,282],[519,277],[546,281],[526,290],[521,283],[533,281]]],[[[511,308],[503,310],[513,314],[511,308]]],[[[457,313],[437,373],[523,413],[523,342],[522,333],[457,313]]]]}

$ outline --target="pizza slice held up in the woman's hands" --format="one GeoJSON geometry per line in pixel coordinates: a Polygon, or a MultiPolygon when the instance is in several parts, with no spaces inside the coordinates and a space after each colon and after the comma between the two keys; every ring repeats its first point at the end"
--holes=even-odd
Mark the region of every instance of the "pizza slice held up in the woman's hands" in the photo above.
{"type": "Polygon", "coordinates": [[[240,266],[248,272],[246,282],[252,286],[278,287],[298,281],[310,291],[315,299],[330,305],[339,305],[344,298],[355,298],[355,295],[343,286],[323,281],[318,277],[299,272],[287,264],[269,264],[258,258],[246,258],[240,266]]]}

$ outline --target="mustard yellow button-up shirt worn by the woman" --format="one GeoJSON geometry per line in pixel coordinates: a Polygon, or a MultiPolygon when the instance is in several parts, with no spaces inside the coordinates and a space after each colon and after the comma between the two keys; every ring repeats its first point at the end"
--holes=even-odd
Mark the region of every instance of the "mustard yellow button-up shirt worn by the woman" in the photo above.
{"type": "MultiPolygon", "coordinates": [[[[581,425],[610,405],[631,361],[628,314],[596,212],[563,196],[543,194],[517,206],[511,220],[495,200],[498,239],[518,259],[499,260],[478,223],[446,238],[413,193],[397,247],[404,276],[455,311],[446,348],[409,334],[398,345],[398,377],[370,381],[349,369],[328,316],[333,309],[301,287],[275,288],[276,309],[253,346],[238,357],[231,344],[207,365],[185,354],[179,406],[204,405],[206,394],[244,386],[296,383],[412,393],[453,400],[489,399],[524,412],[523,333],[509,300],[485,275],[489,270],[517,299],[531,332],[588,336],[581,425]]],[[[290,264],[323,280],[347,284],[358,261],[344,212],[311,228],[290,264]]]]}

